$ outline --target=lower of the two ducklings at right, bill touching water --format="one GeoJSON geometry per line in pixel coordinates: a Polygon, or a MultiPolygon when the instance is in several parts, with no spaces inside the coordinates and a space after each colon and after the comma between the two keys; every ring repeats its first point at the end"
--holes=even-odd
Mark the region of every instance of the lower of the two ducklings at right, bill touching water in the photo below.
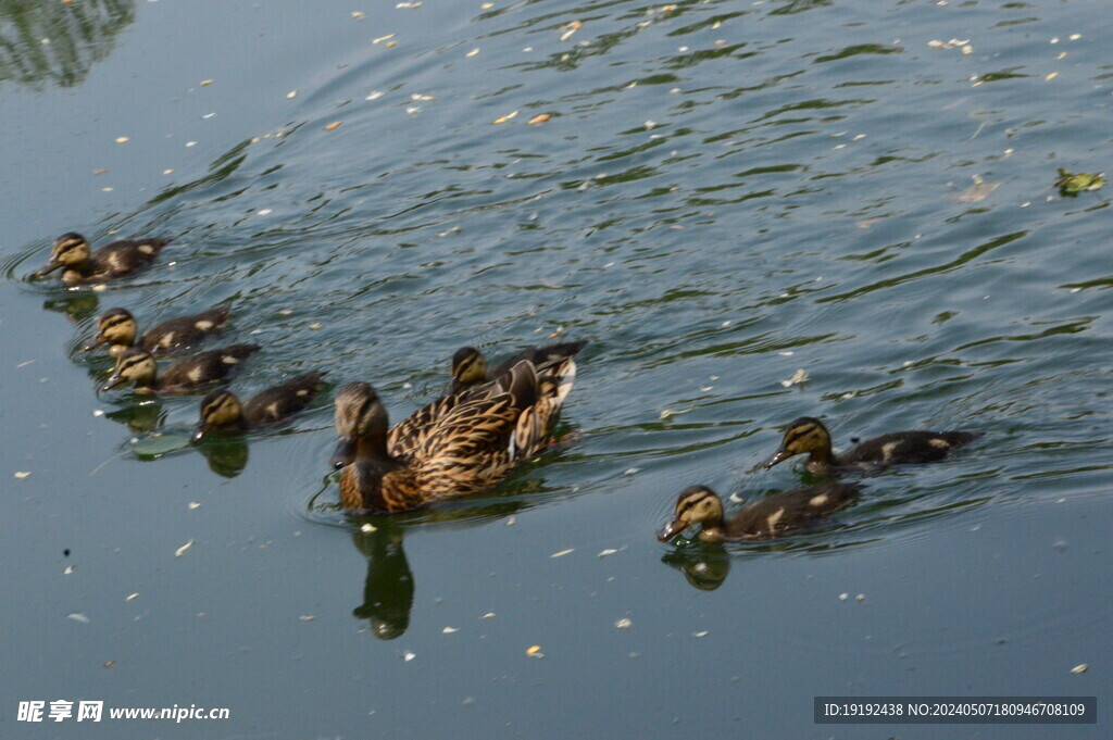
{"type": "Polygon", "coordinates": [[[668,542],[689,525],[702,524],[699,539],[703,542],[767,540],[820,523],[860,492],[860,485],[847,483],[795,489],[756,501],[725,519],[719,494],[706,485],[691,485],[680,492],[672,521],[657,537],[668,542]]]}

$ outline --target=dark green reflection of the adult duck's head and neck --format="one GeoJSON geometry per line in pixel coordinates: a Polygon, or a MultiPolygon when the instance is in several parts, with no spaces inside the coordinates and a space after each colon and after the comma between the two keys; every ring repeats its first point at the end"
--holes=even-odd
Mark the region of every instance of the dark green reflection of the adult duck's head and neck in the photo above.
{"type": "Polygon", "coordinates": [[[380,640],[394,640],[410,628],[414,604],[414,576],[402,547],[404,527],[385,517],[356,521],[362,526],[352,533],[352,541],[367,559],[367,578],[363,603],[352,614],[367,620],[372,634],[380,640]]]}

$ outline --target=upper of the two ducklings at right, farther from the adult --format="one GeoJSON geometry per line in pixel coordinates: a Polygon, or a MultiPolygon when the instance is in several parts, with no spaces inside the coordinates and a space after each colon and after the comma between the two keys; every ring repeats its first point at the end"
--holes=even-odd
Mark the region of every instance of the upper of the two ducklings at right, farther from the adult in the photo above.
{"type": "Polygon", "coordinates": [[[761,463],[766,470],[794,455],[808,453],[805,465],[815,475],[834,475],[839,467],[873,468],[904,463],[934,463],[981,436],[977,432],[894,432],[867,440],[841,455],[831,452],[831,435],[818,418],[801,416],[785,431],[780,450],[761,463]]]}

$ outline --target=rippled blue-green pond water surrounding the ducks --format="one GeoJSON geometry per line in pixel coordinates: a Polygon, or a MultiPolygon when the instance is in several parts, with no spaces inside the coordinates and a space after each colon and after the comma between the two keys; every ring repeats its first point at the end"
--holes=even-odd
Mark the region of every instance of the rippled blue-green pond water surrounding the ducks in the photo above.
{"type": "Polygon", "coordinates": [[[1109,711],[1110,190],[1054,188],[1109,167],[1109,19],[0,2],[0,736],[1107,737],[811,707],[1109,711]],[[104,292],[29,279],[71,229],[174,244],[104,292]],[[198,399],[98,398],[96,316],[223,300],[225,338],[264,345],[234,389],[327,369],[329,391],[289,426],[137,455],[198,399]],[[457,347],[554,334],[591,342],[565,442],[483,496],[338,511],[335,387],[402,418],[457,347]],[[868,476],[815,532],[656,541],[689,484],[798,485],[757,465],[801,415],[843,446],[985,436],[868,476]],[[230,717],[19,721],[32,700],[230,717]]]}

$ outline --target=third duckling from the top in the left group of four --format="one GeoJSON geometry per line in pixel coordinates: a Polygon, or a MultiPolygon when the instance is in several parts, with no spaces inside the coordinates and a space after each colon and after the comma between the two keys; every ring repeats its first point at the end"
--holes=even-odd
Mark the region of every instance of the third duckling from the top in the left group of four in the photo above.
{"type": "Polygon", "coordinates": [[[150,353],[131,347],[116,361],[116,369],[100,391],[131,383],[136,393],[190,393],[213,383],[227,382],[240,364],[258,349],[257,344],[234,344],[210,349],[180,359],[159,375],[158,364],[150,353]]]}

